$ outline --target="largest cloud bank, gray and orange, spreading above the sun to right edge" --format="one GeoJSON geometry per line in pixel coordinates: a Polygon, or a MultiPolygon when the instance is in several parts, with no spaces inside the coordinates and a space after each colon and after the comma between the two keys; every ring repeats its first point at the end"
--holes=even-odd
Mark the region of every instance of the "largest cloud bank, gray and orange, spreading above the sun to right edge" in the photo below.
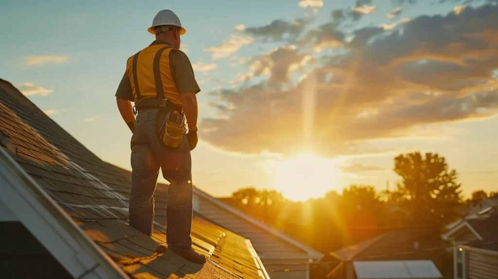
{"type": "Polygon", "coordinates": [[[458,15],[421,15],[402,30],[364,27],[342,41],[337,35],[345,31],[328,23],[314,29],[318,35],[305,34],[311,43],[250,59],[258,79],[217,91],[219,117],[203,119],[209,132],[200,137],[234,152],[312,147],[322,156],[349,156],[374,153],[376,140],[412,137],[423,125],[495,115],[496,18],[496,5],[468,6],[458,15]],[[300,65],[321,34],[342,42],[341,51],[312,56],[319,63],[296,82],[290,65],[300,65]]]}

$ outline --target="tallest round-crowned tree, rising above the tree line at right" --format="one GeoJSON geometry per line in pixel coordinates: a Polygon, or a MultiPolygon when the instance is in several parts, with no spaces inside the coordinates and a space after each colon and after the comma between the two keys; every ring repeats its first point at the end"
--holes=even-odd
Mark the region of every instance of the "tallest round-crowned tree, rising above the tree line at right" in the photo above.
{"type": "Polygon", "coordinates": [[[444,157],[437,153],[401,154],[394,158],[394,172],[401,207],[412,224],[447,224],[459,217],[461,189],[457,172],[449,170],[444,157]]]}

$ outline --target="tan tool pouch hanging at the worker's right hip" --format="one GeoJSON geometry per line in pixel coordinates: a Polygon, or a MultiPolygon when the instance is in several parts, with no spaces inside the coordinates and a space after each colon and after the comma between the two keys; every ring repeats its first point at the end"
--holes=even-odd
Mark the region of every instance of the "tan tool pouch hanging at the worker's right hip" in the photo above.
{"type": "Polygon", "coordinates": [[[164,145],[177,148],[186,130],[183,115],[170,111],[162,122],[159,138],[164,145]]]}

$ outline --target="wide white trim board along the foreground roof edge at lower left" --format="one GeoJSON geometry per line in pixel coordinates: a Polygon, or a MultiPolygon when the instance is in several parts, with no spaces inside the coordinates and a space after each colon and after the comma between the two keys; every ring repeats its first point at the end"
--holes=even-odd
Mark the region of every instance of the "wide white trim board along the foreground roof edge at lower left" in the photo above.
{"type": "Polygon", "coordinates": [[[0,200],[74,278],[129,278],[0,148],[0,200]]]}

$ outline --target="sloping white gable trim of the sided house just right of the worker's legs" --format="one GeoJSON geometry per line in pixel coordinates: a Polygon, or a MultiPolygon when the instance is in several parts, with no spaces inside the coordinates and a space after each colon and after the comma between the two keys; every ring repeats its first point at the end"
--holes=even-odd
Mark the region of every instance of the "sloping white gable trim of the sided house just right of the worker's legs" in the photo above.
{"type": "Polygon", "coordinates": [[[302,250],[306,251],[306,253],[308,253],[308,256],[306,258],[309,258],[309,259],[321,259],[324,256],[322,253],[320,253],[320,252],[318,252],[318,251],[316,251],[316,250],[314,250],[314,249],[312,249],[312,248],[310,248],[310,247],[302,244],[301,242],[299,242],[297,240],[292,239],[291,237],[289,237],[289,236],[287,236],[287,235],[285,235],[285,234],[283,234],[283,233],[281,233],[281,232],[273,229],[272,227],[270,227],[270,226],[268,226],[268,225],[266,225],[266,224],[264,224],[264,223],[262,223],[262,222],[260,222],[260,221],[258,221],[256,219],[250,217],[249,215],[243,213],[242,211],[237,210],[234,207],[226,204],[225,202],[223,202],[223,201],[221,201],[221,200],[219,200],[219,199],[217,199],[217,198],[215,198],[215,197],[213,197],[213,196],[211,196],[211,195],[203,192],[202,190],[200,190],[197,187],[194,187],[194,194],[200,195],[201,197],[203,197],[203,198],[211,201],[212,203],[220,206],[221,208],[223,208],[223,209],[225,209],[225,210],[227,210],[227,211],[229,211],[229,212],[231,212],[231,213],[233,213],[233,214],[235,214],[235,215],[243,218],[244,220],[248,221],[249,223],[252,223],[252,224],[258,226],[259,228],[262,228],[262,229],[266,230],[267,232],[269,232],[269,233],[271,233],[271,234],[273,234],[273,235],[275,235],[275,236],[277,236],[277,237],[279,237],[279,238],[287,241],[288,243],[290,243],[290,244],[298,247],[299,249],[302,249],[302,250]]]}

